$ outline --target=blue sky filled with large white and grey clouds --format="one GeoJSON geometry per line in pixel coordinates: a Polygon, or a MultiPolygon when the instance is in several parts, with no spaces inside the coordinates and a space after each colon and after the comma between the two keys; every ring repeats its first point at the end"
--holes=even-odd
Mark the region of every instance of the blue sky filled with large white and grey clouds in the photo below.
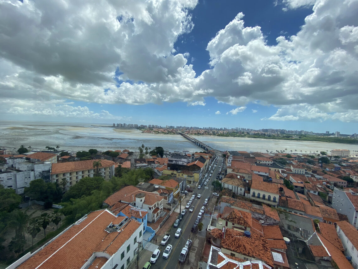
{"type": "Polygon", "coordinates": [[[3,0],[0,119],[357,133],[358,0],[3,0]]]}

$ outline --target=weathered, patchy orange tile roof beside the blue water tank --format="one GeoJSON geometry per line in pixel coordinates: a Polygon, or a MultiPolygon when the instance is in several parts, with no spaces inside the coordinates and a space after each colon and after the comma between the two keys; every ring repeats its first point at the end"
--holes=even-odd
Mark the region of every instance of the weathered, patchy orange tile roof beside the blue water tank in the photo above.
{"type": "Polygon", "coordinates": [[[248,257],[259,259],[273,266],[269,244],[267,239],[258,233],[251,233],[250,237],[243,232],[226,229],[225,238],[221,239],[221,247],[248,257]]]}

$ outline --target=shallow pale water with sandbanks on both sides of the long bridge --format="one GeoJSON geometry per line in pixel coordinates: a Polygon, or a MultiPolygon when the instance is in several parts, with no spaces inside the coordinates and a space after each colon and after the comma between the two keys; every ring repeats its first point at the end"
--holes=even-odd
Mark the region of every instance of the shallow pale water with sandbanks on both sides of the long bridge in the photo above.
{"type": "MultiPolygon", "coordinates": [[[[218,150],[239,151],[276,151],[287,148],[287,153],[309,153],[330,151],[336,148],[358,151],[358,145],[326,143],[314,141],[268,140],[261,138],[236,138],[217,136],[194,136],[218,150]]],[[[154,148],[161,146],[167,151],[200,151],[200,147],[180,135],[141,133],[137,129],[116,129],[109,124],[64,123],[64,122],[21,122],[0,121],[0,147],[19,148],[31,146],[45,149],[45,146],[60,146],[61,150],[79,151],[96,148],[97,150],[135,151],[144,144],[154,148]],[[108,126],[108,127],[104,127],[108,126]]]]}

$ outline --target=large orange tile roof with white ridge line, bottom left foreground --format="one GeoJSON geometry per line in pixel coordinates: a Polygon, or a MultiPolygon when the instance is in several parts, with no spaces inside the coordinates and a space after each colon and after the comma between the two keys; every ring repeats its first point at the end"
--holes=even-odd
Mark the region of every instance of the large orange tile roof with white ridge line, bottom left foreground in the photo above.
{"type": "Polygon", "coordinates": [[[113,255],[141,225],[131,219],[121,227],[120,232],[105,231],[111,222],[124,219],[106,209],[89,213],[82,222],[73,225],[17,268],[82,268],[94,252],[113,255]]]}

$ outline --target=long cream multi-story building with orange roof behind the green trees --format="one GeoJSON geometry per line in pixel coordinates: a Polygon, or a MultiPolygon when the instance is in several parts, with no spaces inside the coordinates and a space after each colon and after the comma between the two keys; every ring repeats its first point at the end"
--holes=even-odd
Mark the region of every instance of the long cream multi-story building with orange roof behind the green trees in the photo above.
{"type": "Polygon", "coordinates": [[[88,160],[76,162],[61,162],[52,164],[51,166],[51,182],[61,183],[62,179],[66,178],[67,185],[72,186],[80,179],[86,177],[93,177],[96,173],[96,168],[93,167],[93,162],[101,161],[98,172],[105,180],[109,180],[114,176],[115,162],[108,160],[88,160]]]}

